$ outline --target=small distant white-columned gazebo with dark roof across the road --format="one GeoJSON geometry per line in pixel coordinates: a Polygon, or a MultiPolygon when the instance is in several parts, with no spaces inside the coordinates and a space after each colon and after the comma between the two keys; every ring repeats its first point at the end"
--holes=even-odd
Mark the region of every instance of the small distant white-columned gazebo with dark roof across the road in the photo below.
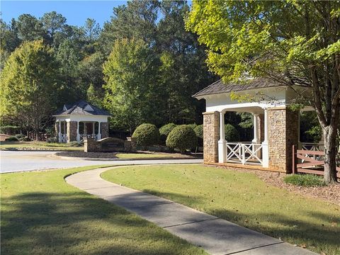
{"type": "Polygon", "coordinates": [[[101,140],[108,137],[110,113],[86,101],[64,105],[55,115],[59,142],[81,142],[85,137],[101,140]]]}

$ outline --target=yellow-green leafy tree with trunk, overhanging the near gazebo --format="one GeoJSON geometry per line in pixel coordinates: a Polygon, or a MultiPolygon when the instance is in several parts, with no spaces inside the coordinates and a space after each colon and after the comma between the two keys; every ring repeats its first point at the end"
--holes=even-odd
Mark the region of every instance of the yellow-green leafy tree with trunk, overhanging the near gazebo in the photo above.
{"type": "Polygon", "coordinates": [[[339,1],[193,1],[187,28],[223,81],[244,74],[312,90],[324,137],[324,179],[336,181],[340,112],[339,1]]]}

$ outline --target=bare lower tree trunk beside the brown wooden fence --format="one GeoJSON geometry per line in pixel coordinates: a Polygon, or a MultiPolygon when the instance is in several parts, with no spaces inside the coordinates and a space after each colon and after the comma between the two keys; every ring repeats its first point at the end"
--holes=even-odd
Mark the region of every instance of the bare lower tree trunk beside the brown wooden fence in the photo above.
{"type": "Polygon", "coordinates": [[[335,183],[336,179],[336,129],[327,126],[322,128],[324,136],[324,181],[335,183]]]}

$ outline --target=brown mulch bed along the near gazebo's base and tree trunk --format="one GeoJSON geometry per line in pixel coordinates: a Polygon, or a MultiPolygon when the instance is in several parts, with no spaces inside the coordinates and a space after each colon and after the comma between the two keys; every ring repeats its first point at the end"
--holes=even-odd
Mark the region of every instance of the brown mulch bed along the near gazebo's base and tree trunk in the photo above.
{"type": "MultiPolygon", "coordinates": [[[[231,169],[227,166],[219,166],[224,169],[231,169]]],[[[285,188],[288,191],[299,193],[310,198],[320,198],[329,203],[340,205],[340,183],[329,184],[321,187],[300,187],[293,184],[288,184],[283,181],[286,176],[284,173],[261,171],[261,170],[246,170],[246,169],[231,169],[236,171],[252,172],[265,181],[268,185],[276,186],[278,188],[285,188]]]]}

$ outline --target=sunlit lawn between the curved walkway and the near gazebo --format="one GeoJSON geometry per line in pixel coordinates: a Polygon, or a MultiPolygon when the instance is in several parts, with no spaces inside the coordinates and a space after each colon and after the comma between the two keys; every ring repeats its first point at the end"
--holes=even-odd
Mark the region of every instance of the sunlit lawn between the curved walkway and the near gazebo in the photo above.
{"type": "Polygon", "coordinates": [[[268,186],[255,174],[202,165],[124,166],[103,179],[216,215],[324,254],[340,254],[340,207],[268,186]]]}

